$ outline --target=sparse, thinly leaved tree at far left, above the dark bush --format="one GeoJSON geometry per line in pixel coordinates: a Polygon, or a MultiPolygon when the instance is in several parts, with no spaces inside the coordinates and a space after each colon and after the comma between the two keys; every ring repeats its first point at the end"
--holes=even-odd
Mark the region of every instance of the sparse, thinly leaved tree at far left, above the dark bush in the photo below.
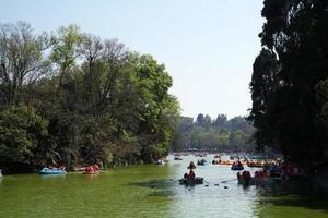
{"type": "MultiPolygon", "coordinates": [[[[27,86],[48,72],[45,53],[51,46],[47,34],[34,35],[32,27],[19,22],[0,25],[0,104],[11,106],[24,98],[27,86]]],[[[26,99],[26,98],[25,98],[26,99]]]]}

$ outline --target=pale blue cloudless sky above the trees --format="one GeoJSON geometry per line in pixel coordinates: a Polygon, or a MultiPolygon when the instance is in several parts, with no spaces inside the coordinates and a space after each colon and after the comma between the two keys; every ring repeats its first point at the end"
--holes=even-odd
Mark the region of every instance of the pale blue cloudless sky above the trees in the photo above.
{"type": "Polygon", "coordinates": [[[0,23],[36,33],[78,24],[152,55],[174,82],[181,114],[247,116],[251,68],[261,46],[262,0],[7,0],[0,23]]]}

